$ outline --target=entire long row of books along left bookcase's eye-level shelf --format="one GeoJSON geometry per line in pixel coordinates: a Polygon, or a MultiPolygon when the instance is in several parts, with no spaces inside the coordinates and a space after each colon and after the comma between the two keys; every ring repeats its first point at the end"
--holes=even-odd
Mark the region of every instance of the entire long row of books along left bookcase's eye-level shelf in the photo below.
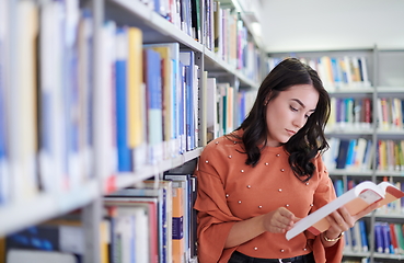
{"type": "MultiPolygon", "coordinates": [[[[245,116],[244,104],[240,118],[233,113],[234,103],[251,101],[245,92],[239,99],[229,83],[218,83],[217,99],[206,100],[201,83],[208,72],[195,53],[181,50],[178,43],[143,45],[137,27],[106,21],[103,55],[93,65],[91,12],[77,0],[66,4],[16,4],[16,54],[24,59],[15,60],[20,77],[11,89],[7,57],[0,57],[0,205],[79,186],[93,176],[94,146],[106,179],[206,145],[204,108],[216,108],[209,122],[215,117],[221,132],[210,132],[213,136],[231,132],[245,116]],[[101,78],[93,79],[93,68],[101,78]]],[[[8,43],[3,30],[0,42],[8,43]]]]}

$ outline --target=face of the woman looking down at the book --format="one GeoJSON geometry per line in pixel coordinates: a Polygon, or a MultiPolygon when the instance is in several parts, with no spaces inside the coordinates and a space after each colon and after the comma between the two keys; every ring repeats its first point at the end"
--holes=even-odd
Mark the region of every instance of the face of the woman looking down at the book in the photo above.
{"type": "Polygon", "coordinates": [[[304,126],[314,112],[319,92],[311,84],[292,85],[267,104],[267,146],[278,147],[304,126]]]}

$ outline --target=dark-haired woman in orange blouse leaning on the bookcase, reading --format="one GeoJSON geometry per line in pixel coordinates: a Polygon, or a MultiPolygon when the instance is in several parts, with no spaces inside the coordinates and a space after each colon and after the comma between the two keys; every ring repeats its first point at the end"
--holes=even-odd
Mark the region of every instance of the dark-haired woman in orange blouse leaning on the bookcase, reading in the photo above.
{"type": "Polygon", "coordinates": [[[321,159],[328,115],[330,96],[313,69],[288,58],[272,70],[241,126],[199,158],[199,263],[340,262],[343,232],[373,206],[356,217],[338,209],[319,236],[285,238],[335,198],[321,159]]]}

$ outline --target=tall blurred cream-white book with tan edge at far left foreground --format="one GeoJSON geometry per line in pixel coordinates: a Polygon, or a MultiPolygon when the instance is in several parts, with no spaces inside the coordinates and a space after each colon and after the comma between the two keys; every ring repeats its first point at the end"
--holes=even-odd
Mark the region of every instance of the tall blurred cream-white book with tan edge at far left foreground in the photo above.
{"type": "Polygon", "coordinates": [[[30,198],[37,193],[37,67],[36,38],[38,8],[34,1],[16,3],[18,37],[15,52],[19,69],[15,89],[10,90],[10,163],[13,198],[30,198]]]}

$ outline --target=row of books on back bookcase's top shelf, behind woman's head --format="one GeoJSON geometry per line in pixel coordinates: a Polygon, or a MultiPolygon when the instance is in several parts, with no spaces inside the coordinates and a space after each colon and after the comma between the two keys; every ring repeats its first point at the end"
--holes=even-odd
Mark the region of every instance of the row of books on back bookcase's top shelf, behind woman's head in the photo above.
{"type": "MultiPolygon", "coordinates": [[[[318,71],[328,91],[370,87],[369,69],[365,56],[321,56],[299,57],[301,61],[318,71]]],[[[282,58],[272,57],[269,67],[275,67],[282,58]]]]}

